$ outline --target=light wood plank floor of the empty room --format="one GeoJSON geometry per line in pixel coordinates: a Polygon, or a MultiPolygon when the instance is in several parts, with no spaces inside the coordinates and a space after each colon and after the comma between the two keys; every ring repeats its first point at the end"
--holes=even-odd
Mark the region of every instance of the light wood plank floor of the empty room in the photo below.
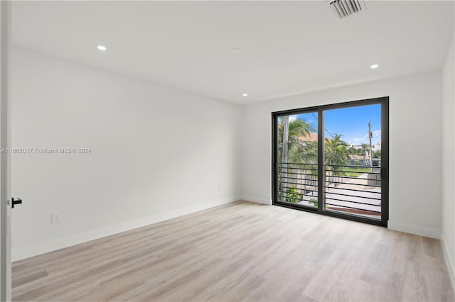
{"type": "Polygon", "coordinates": [[[454,301],[439,240],[236,202],[13,264],[14,301],[454,301]]]}

